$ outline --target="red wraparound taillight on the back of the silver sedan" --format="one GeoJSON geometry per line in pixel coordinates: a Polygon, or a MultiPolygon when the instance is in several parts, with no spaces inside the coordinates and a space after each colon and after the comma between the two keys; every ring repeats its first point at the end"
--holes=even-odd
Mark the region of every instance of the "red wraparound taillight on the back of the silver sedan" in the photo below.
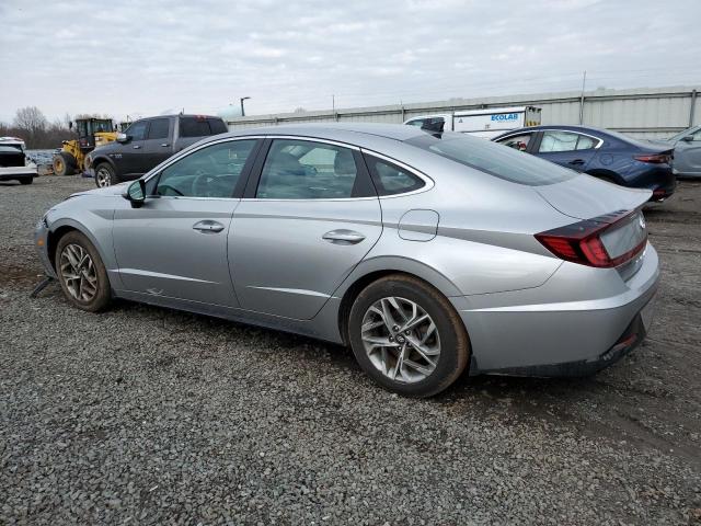
{"type": "Polygon", "coordinates": [[[642,213],[633,211],[574,222],[537,233],[536,239],[562,260],[610,268],[645,248],[647,229],[642,213]]]}

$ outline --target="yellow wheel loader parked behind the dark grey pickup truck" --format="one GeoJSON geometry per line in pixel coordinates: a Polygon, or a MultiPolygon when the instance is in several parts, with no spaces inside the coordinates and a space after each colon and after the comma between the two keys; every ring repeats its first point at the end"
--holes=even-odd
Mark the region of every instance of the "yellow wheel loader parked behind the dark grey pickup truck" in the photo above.
{"type": "MultiPolygon", "coordinates": [[[[73,123],[69,126],[72,128],[73,123]]],[[[64,140],[64,147],[54,156],[54,173],[56,175],[72,175],[82,173],[85,167],[85,156],[100,146],[114,142],[117,132],[111,118],[77,118],[76,132],[78,139],[64,140]]]]}

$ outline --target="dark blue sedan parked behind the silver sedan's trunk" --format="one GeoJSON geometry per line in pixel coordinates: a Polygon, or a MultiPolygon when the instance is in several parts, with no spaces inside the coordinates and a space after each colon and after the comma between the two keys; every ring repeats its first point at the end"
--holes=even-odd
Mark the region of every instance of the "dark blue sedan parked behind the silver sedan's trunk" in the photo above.
{"type": "Polygon", "coordinates": [[[588,126],[535,126],[492,140],[611,183],[652,190],[650,201],[666,199],[677,185],[670,165],[673,148],[618,132],[588,126]]]}

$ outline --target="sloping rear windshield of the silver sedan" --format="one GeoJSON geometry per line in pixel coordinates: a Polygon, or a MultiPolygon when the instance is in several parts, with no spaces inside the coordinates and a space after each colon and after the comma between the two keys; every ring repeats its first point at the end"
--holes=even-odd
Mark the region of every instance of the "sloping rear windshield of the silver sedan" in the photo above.
{"type": "Polygon", "coordinates": [[[452,133],[426,134],[406,142],[466,167],[528,186],[554,184],[577,176],[573,170],[479,137],[452,133]]]}

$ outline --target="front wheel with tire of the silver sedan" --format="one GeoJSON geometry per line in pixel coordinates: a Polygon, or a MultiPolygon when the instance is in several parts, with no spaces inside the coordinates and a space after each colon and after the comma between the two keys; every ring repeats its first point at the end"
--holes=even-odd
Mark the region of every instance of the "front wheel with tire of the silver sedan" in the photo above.
{"type": "Polygon", "coordinates": [[[58,241],[56,274],[64,294],[79,309],[97,312],[110,304],[105,265],[84,235],[71,231],[58,241]]]}

